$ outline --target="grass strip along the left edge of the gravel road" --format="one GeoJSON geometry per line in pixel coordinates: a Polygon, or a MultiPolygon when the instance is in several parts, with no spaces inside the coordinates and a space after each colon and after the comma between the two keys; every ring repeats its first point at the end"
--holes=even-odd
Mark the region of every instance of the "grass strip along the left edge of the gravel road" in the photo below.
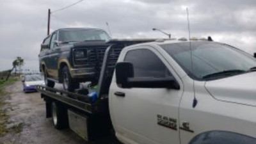
{"type": "Polygon", "coordinates": [[[10,77],[8,81],[5,79],[0,79],[0,137],[3,136],[6,132],[14,131],[20,132],[22,128],[22,124],[13,125],[13,127],[6,127],[8,122],[8,115],[6,115],[6,99],[8,99],[9,93],[4,90],[4,88],[10,84],[13,84],[15,81],[18,80],[18,77],[10,77]]]}

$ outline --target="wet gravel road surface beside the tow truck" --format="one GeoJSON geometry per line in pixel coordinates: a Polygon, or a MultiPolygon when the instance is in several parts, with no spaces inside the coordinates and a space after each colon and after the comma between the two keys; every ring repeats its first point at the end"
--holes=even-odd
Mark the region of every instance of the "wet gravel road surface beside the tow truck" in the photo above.
{"type": "MultiPolygon", "coordinates": [[[[77,136],[70,129],[58,131],[54,129],[52,118],[45,118],[44,100],[40,98],[40,93],[22,92],[20,81],[7,86],[6,91],[10,92],[7,115],[9,116],[8,127],[15,125],[16,132],[8,132],[0,137],[0,144],[18,143],[49,143],[49,144],[77,144],[87,143],[77,136]]],[[[115,138],[104,138],[91,143],[118,143],[115,138]]]]}

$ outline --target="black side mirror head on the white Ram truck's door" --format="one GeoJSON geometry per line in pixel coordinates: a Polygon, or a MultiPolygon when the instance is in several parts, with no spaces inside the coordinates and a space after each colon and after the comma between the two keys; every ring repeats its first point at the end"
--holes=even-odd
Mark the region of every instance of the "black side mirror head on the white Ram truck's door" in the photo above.
{"type": "Polygon", "coordinates": [[[133,65],[129,62],[116,63],[116,83],[121,88],[128,88],[128,77],[134,77],[133,65]]]}

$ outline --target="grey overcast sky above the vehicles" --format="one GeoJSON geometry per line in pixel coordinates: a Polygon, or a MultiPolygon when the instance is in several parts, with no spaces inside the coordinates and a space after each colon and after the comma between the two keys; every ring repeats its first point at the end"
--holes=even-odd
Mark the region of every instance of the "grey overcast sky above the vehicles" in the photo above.
{"type": "MultiPolygon", "coordinates": [[[[38,70],[40,44],[47,34],[47,11],[52,12],[78,0],[1,0],[0,70],[12,68],[16,56],[25,68],[38,70]]],[[[58,28],[106,29],[113,38],[166,38],[152,31],[159,28],[172,37],[188,38],[186,7],[191,37],[212,36],[214,41],[256,52],[255,0],[84,0],[66,10],[52,13],[51,31],[58,28]]]]}

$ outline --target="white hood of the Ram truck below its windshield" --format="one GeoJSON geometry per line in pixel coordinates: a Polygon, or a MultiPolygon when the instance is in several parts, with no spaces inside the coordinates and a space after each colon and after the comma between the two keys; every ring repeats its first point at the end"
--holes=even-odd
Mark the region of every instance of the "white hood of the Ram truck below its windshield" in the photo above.
{"type": "Polygon", "coordinates": [[[256,72],[207,81],[205,88],[218,100],[256,106],[256,72]]]}

